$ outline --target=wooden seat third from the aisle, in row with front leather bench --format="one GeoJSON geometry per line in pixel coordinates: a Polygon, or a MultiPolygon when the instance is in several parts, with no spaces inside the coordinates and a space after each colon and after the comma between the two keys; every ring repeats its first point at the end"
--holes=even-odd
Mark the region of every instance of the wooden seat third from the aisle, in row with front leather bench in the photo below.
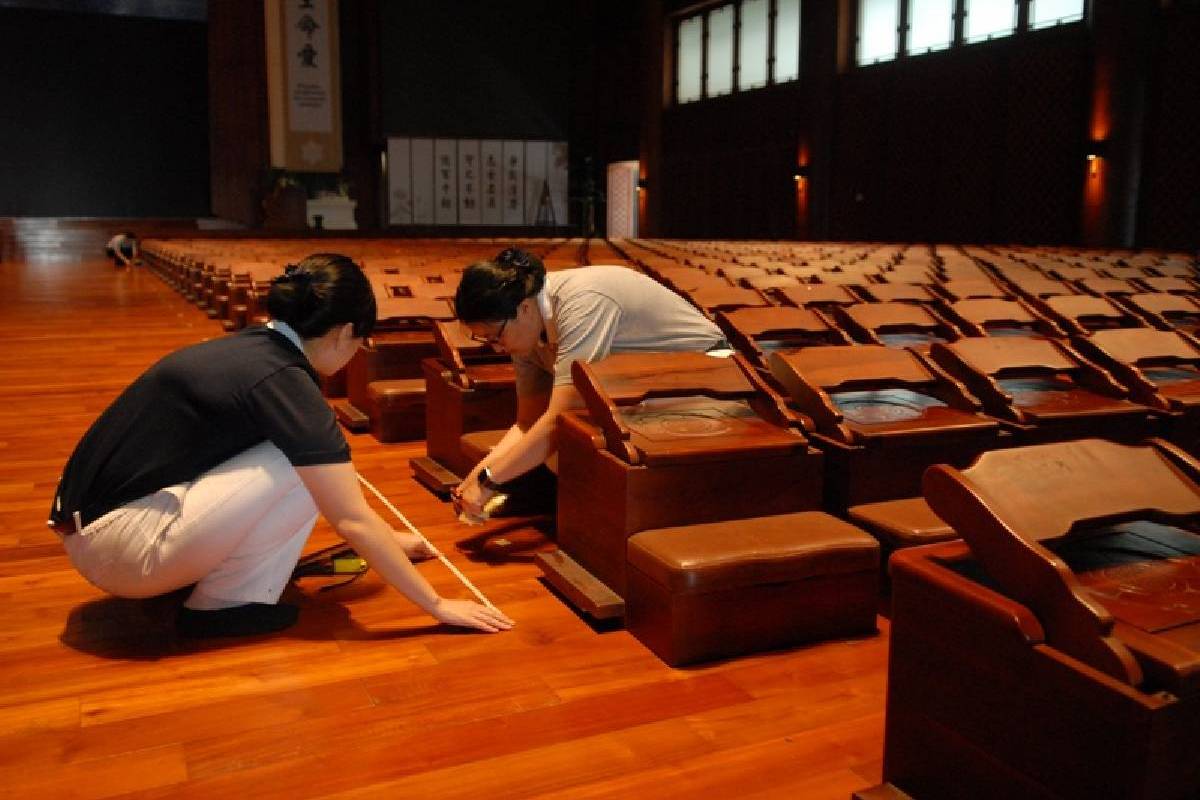
{"type": "Polygon", "coordinates": [[[930,357],[961,380],[1022,443],[1158,433],[1159,415],[1128,399],[1108,372],[1052,339],[968,338],[935,344],[930,357]]]}

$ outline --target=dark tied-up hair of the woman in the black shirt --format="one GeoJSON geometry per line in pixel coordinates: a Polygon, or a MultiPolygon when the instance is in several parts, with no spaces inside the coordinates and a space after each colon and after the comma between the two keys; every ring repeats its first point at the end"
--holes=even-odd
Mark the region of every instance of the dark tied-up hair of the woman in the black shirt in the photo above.
{"type": "Polygon", "coordinates": [[[283,275],[271,281],[266,311],[305,339],[346,323],[361,338],[371,335],[376,321],[371,282],[358,264],[337,253],[314,253],[288,264],[283,275]]]}

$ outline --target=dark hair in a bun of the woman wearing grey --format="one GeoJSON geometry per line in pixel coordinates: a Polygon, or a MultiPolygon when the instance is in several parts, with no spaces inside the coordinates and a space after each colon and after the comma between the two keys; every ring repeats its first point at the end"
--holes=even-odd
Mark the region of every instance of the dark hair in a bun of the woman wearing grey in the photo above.
{"type": "Polygon", "coordinates": [[[455,315],[464,323],[512,319],[517,306],[546,283],[541,260],[516,247],[502,251],[491,261],[468,266],[454,295],[455,315]]]}

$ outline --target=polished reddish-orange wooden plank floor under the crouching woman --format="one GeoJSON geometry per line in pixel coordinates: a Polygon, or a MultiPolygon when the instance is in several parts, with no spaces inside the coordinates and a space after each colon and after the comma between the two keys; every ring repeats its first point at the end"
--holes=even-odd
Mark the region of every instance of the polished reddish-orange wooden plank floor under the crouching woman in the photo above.
{"type": "MultiPolygon", "coordinates": [[[[432,625],[367,576],[301,585],[283,634],[198,645],[172,632],[179,597],[90,587],[44,527],[60,468],[142,369],[221,335],[154,275],[114,270],[103,239],[0,221],[0,796],[845,800],[880,781],[886,620],[868,639],[671,669],[551,594],[535,530],[456,523],[412,480],[420,444],[352,437],[359,470],[511,632],[432,625]]],[[[310,547],[332,541],[318,523],[310,547]]]]}

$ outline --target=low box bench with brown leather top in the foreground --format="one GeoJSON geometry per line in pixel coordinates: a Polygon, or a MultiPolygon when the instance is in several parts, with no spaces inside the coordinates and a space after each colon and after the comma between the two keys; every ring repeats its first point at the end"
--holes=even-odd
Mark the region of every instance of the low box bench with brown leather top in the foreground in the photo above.
{"type": "Polygon", "coordinates": [[[671,666],[871,633],[880,546],[820,511],[629,539],[625,625],[671,666]]]}

